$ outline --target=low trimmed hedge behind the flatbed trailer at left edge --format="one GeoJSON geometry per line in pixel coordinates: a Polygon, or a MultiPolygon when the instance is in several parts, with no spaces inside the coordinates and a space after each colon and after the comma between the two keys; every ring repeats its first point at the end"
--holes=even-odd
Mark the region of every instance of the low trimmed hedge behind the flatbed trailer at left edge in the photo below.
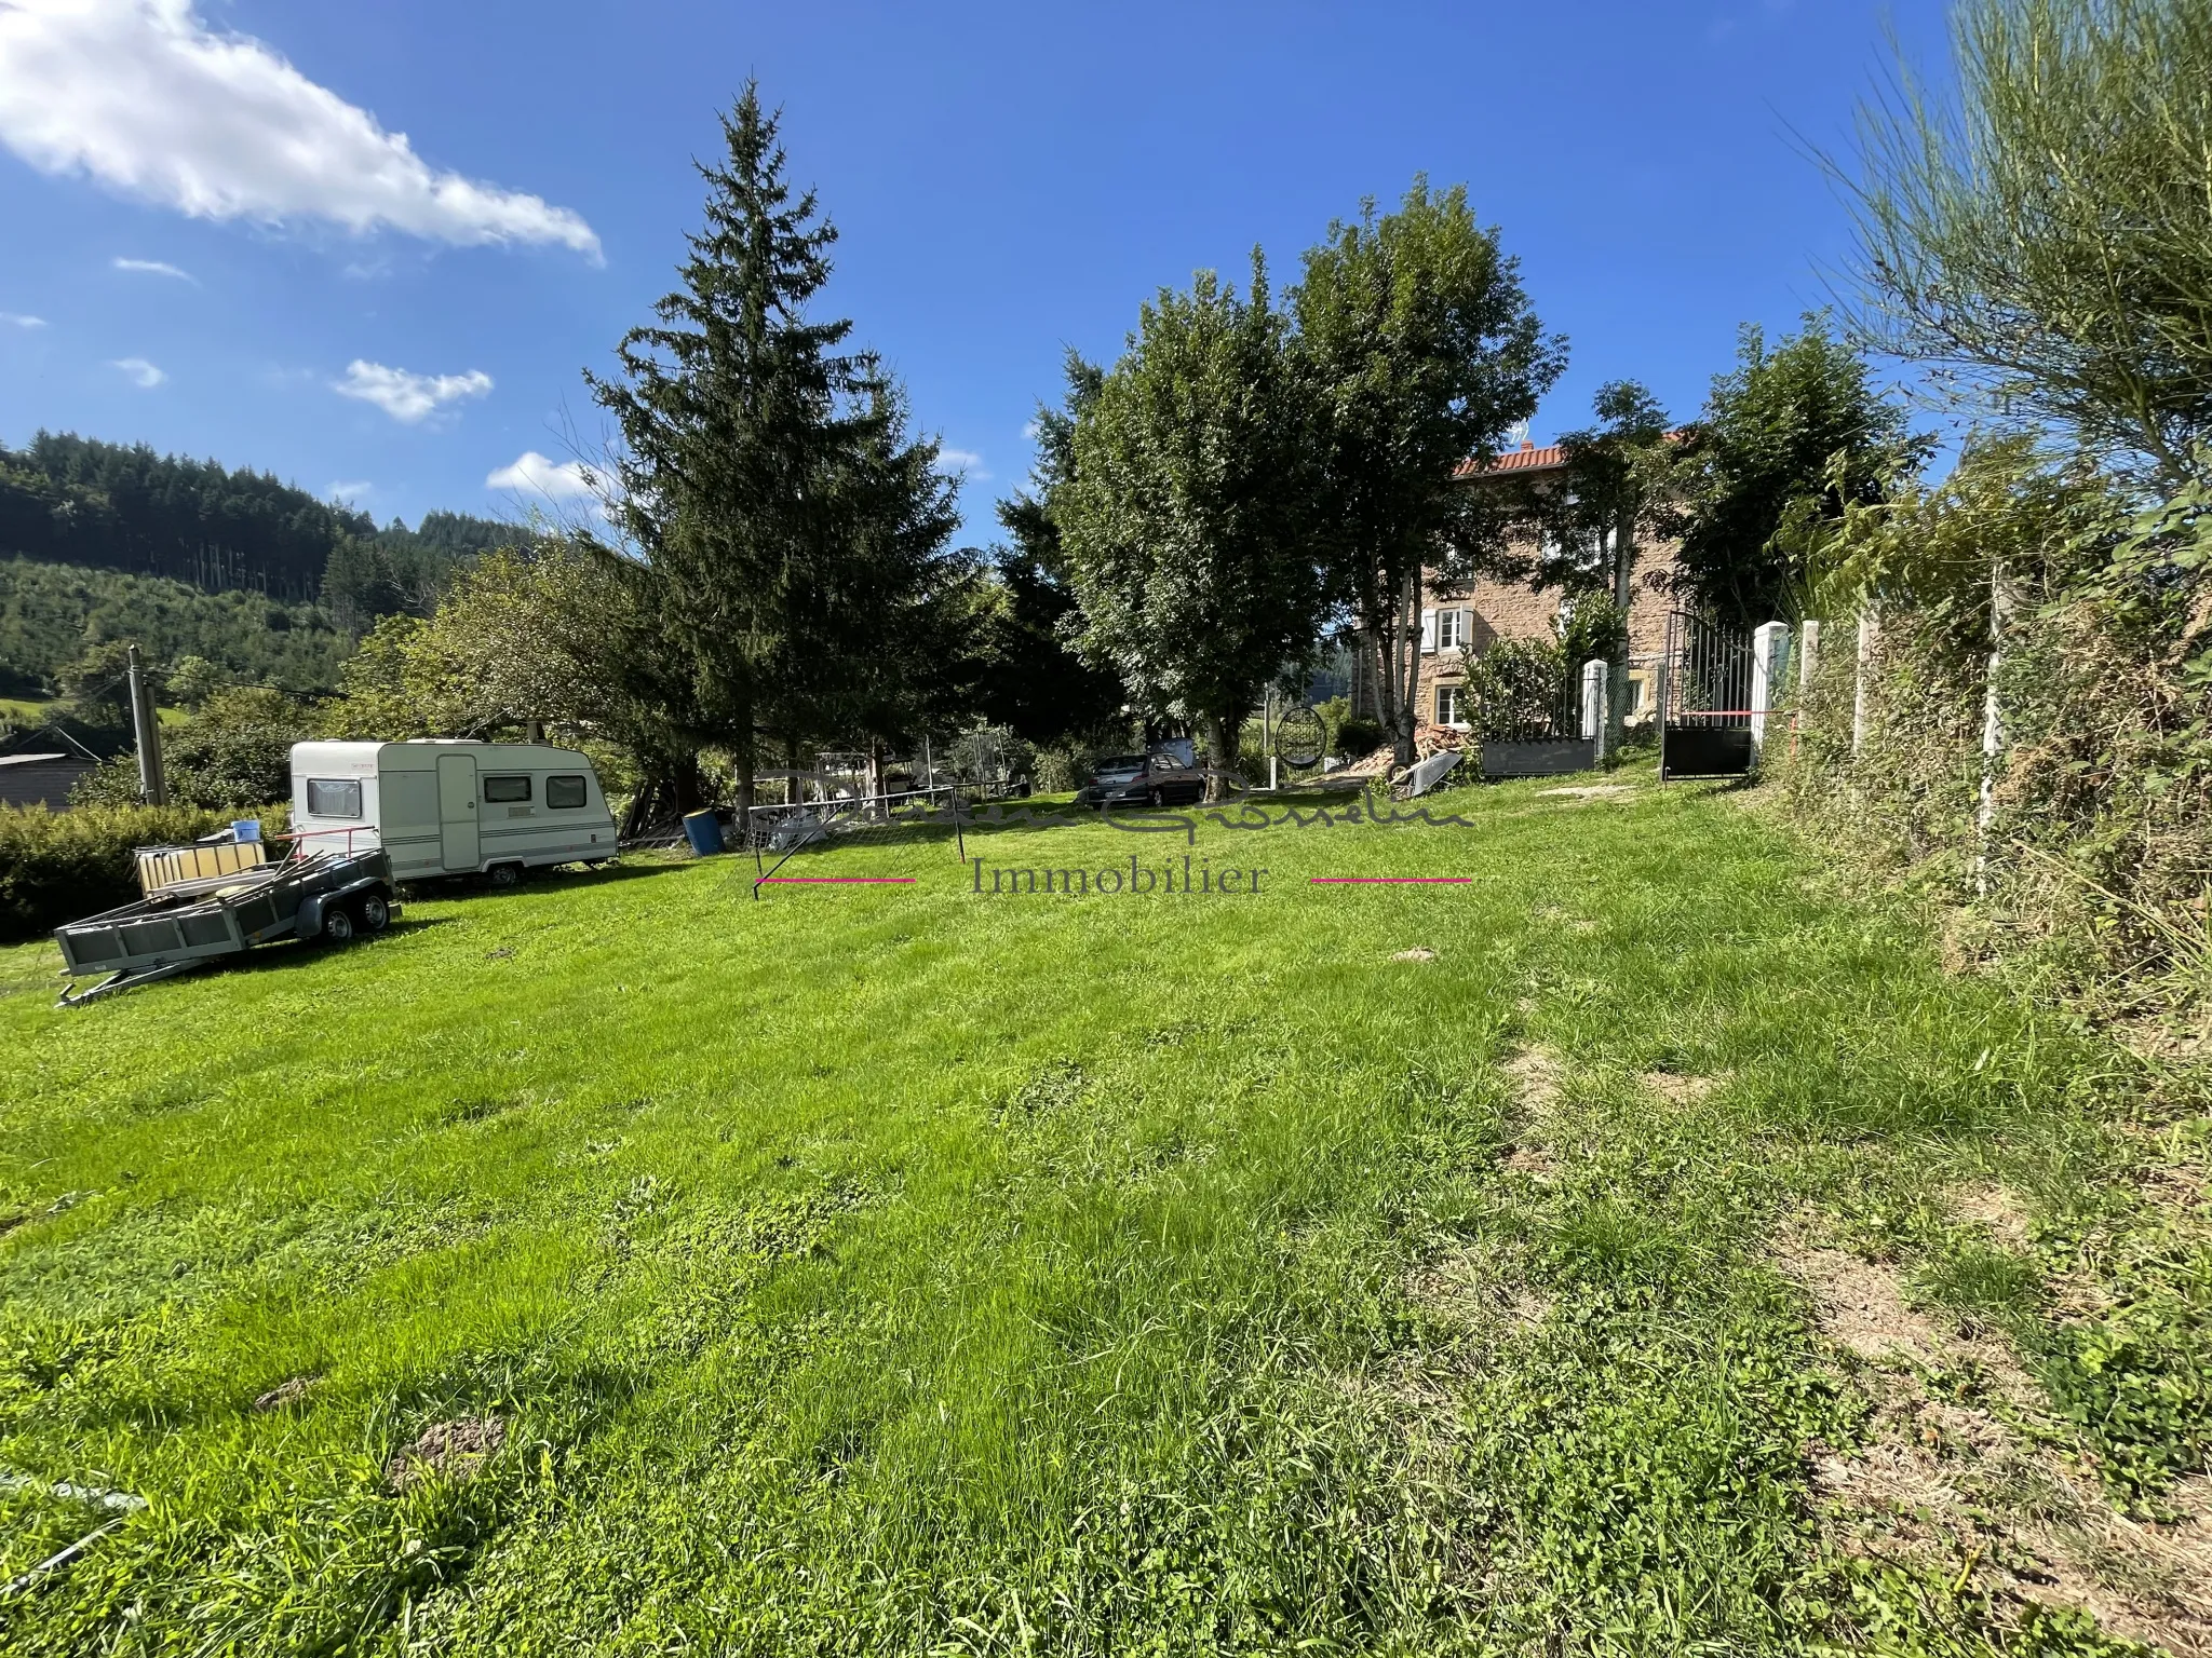
{"type": "MultiPolygon", "coordinates": [[[[234,814],[201,807],[0,807],[0,942],[51,933],[137,898],[139,847],[168,847],[223,829],[234,814]]],[[[263,814],[268,833],[285,827],[263,814]]]]}

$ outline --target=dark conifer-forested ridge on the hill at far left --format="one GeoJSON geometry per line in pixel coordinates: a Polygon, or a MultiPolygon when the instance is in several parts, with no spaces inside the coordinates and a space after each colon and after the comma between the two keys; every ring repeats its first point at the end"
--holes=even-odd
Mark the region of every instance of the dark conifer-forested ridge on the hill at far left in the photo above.
{"type": "Polygon", "coordinates": [[[51,431],[0,444],[0,557],[323,604],[341,630],[422,608],[456,562],[513,539],[513,526],[465,513],[378,528],[268,473],[146,444],[51,431]]]}

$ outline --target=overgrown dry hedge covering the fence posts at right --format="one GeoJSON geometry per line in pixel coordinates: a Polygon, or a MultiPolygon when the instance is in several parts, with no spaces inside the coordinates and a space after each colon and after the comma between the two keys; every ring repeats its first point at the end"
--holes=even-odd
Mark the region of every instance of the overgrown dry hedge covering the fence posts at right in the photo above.
{"type": "Polygon", "coordinates": [[[1878,621],[1867,734],[1854,754],[1845,623],[1774,760],[1794,807],[1973,904],[1986,946],[2031,951],[2112,1012],[2199,1006],[2208,550],[2197,486],[2132,513],[2112,480],[2026,438],[1973,442],[1942,486],[1847,513],[1823,544],[1825,592],[1832,615],[1878,621]],[[1993,643],[2004,752],[1984,833],[1993,643]]]}

